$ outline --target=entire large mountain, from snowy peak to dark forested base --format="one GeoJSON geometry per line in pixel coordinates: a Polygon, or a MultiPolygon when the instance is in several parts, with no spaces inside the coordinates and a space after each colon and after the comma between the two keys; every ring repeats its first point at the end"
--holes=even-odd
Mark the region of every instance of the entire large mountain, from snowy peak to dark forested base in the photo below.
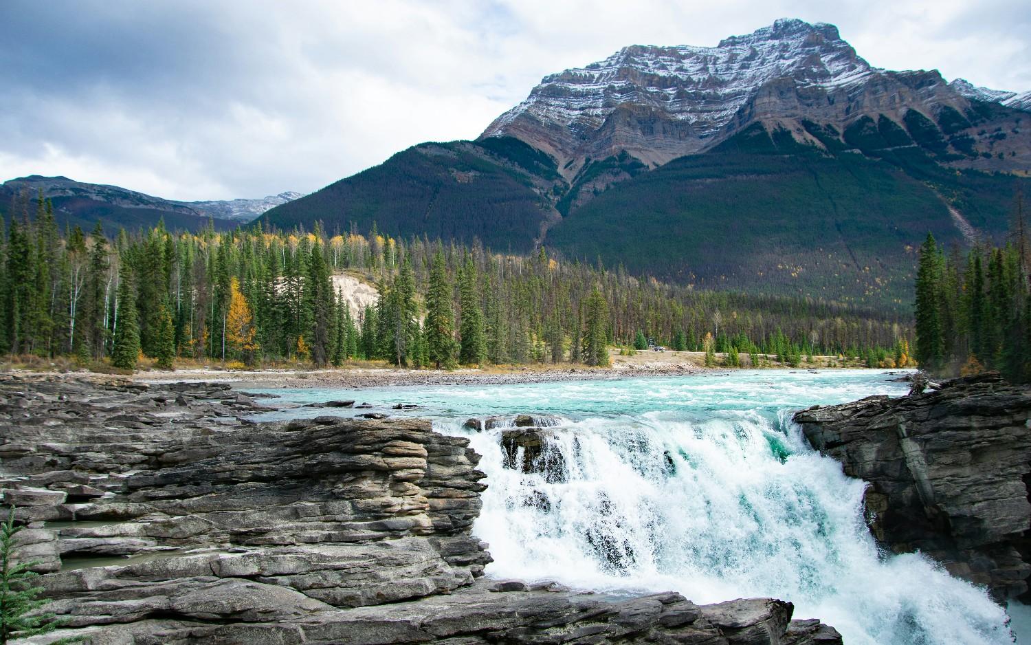
{"type": "Polygon", "coordinates": [[[784,20],[546,76],[475,142],[417,146],[264,219],[902,307],[927,231],[999,239],[1031,192],[1026,97],[878,69],[835,27],[784,20]]]}

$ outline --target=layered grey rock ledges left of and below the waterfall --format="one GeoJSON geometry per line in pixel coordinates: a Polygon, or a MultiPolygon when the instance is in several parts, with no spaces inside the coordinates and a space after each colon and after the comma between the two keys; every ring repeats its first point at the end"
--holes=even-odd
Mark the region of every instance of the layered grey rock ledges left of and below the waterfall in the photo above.
{"type": "Polygon", "coordinates": [[[268,409],[226,386],[0,381],[0,485],[65,621],[26,642],[840,643],[780,601],[487,580],[467,440],[246,419],[268,409]]]}

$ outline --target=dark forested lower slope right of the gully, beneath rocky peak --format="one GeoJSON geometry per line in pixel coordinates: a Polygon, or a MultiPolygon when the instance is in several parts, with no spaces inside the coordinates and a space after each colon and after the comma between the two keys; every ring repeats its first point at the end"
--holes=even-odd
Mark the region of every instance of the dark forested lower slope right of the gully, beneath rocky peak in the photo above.
{"type": "Polygon", "coordinates": [[[975,235],[1000,239],[1015,188],[1031,189],[944,168],[920,149],[867,152],[830,153],[757,125],[598,195],[547,244],[672,282],[906,309],[927,232],[968,244],[950,206],[975,235]]]}

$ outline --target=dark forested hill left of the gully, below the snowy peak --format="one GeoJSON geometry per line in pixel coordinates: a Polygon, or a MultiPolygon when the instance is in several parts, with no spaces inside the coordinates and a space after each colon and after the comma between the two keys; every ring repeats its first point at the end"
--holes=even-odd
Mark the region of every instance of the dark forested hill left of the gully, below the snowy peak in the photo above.
{"type": "Polygon", "coordinates": [[[422,143],[307,197],[263,221],[280,228],[322,221],[328,230],[375,224],[392,235],[480,239],[498,251],[533,248],[565,183],[555,161],[511,138],[422,143]]]}

